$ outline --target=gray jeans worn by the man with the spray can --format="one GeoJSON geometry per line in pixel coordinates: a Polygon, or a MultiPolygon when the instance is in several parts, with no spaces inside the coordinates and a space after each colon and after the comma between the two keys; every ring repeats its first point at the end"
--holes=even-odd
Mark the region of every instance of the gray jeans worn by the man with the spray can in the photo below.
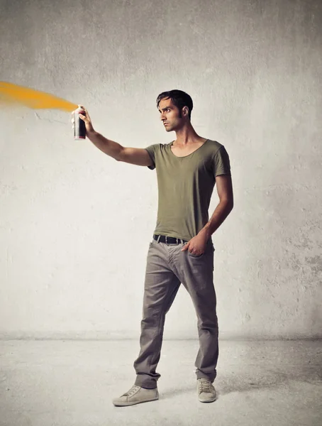
{"type": "Polygon", "coordinates": [[[216,378],[218,360],[218,321],[216,293],[213,287],[213,254],[211,239],[200,256],[181,251],[183,243],[150,242],[145,271],[143,320],[141,321],[140,354],[134,362],[135,385],[156,388],[165,315],[182,283],[188,291],[198,319],[199,352],[196,377],[216,378]]]}

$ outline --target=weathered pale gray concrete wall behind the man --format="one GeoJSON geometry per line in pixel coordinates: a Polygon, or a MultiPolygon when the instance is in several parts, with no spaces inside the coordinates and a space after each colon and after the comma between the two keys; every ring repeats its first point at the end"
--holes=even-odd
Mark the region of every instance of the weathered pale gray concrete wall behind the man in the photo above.
{"type": "MultiPolygon", "coordinates": [[[[321,337],[321,1],[0,5],[0,80],[84,104],[123,146],[170,142],[157,94],[191,94],[196,131],[231,158],[220,337],[321,337]]],[[[138,338],[155,170],[74,141],[62,111],[0,120],[1,336],[138,338]]],[[[183,288],[165,325],[181,337],[197,337],[183,288]]]]}

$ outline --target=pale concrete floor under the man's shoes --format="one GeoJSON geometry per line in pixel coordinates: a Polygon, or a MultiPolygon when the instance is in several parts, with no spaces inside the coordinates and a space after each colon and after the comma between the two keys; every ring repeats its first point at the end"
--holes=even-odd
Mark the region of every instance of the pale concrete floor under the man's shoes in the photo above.
{"type": "Polygon", "coordinates": [[[136,341],[0,342],[0,425],[321,426],[321,341],[220,341],[218,399],[196,398],[196,341],[165,341],[160,400],[114,407],[136,341]]]}

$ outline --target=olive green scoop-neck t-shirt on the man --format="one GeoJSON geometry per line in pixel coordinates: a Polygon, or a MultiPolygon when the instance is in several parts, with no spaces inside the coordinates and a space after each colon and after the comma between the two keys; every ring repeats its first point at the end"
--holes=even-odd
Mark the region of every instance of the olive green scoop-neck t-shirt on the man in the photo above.
{"type": "Polygon", "coordinates": [[[158,208],[154,234],[189,241],[209,222],[209,204],[216,176],[231,175],[228,153],[207,139],[193,153],[177,157],[170,143],[145,148],[157,171],[158,208]]]}

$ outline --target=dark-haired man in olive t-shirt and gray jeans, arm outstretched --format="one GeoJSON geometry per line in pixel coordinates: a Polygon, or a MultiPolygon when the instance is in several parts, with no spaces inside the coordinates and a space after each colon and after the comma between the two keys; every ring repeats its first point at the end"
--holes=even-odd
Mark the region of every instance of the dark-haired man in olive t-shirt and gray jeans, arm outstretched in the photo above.
{"type": "MultiPolygon", "coordinates": [[[[82,106],[81,106],[82,107],[82,106]]],[[[134,362],[134,386],[114,405],[157,400],[156,372],[160,360],[165,315],[182,283],[191,296],[199,333],[196,356],[197,395],[201,402],[216,400],[213,381],[218,360],[218,322],[213,286],[211,240],[233,209],[230,161],[221,143],[201,138],[191,125],[192,99],[181,90],[157,97],[160,119],[176,139],[147,148],[125,148],[94,131],[84,108],[87,137],[117,161],[156,168],[159,191],[157,225],[147,256],[141,322],[140,354],[134,362]],[[219,203],[209,220],[209,203],[217,185],[219,203]]]]}

